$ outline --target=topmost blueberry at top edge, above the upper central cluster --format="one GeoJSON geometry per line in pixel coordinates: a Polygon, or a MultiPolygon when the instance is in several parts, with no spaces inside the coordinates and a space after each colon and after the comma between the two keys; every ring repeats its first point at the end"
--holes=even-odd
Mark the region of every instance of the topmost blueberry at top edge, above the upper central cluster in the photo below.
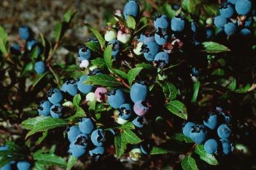
{"type": "Polygon", "coordinates": [[[129,0],[124,6],[124,18],[127,20],[127,16],[137,17],[140,12],[140,6],[136,0],[129,0]]]}

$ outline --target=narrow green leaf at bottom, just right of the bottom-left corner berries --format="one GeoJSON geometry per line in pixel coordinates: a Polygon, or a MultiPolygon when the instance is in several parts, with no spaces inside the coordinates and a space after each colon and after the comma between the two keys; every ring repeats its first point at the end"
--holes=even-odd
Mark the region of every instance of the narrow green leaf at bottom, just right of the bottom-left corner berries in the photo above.
{"type": "Polygon", "coordinates": [[[65,159],[58,157],[54,153],[35,153],[33,158],[34,160],[40,162],[40,164],[44,165],[58,165],[62,167],[67,166],[65,159]]]}

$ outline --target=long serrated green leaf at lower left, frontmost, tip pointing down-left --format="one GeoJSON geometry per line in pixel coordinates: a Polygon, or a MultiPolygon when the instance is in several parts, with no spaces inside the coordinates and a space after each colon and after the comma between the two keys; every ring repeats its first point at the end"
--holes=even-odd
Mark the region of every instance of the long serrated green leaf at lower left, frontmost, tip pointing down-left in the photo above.
{"type": "Polygon", "coordinates": [[[36,132],[44,132],[52,128],[64,127],[67,125],[68,122],[65,120],[47,117],[46,119],[36,123],[34,127],[31,129],[31,131],[28,132],[26,138],[28,138],[30,135],[35,134],[36,132]]]}

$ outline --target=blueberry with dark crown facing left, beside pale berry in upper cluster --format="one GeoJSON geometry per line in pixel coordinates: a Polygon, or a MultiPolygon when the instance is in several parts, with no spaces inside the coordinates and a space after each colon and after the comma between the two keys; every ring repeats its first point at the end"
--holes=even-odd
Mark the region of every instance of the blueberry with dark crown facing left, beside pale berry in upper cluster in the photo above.
{"type": "Polygon", "coordinates": [[[147,42],[142,45],[141,50],[147,61],[154,61],[154,58],[159,51],[159,45],[156,42],[147,42]]]}

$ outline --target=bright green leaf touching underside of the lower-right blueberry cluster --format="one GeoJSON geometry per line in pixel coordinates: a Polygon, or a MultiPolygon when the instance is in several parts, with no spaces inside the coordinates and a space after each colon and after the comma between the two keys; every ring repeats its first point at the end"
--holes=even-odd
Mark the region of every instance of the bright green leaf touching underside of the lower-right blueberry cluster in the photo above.
{"type": "Polygon", "coordinates": [[[218,160],[214,157],[214,155],[206,153],[204,150],[204,144],[197,144],[195,148],[195,153],[197,153],[200,159],[204,160],[208,164],[216,166],[219,164],[218,160]]]}

